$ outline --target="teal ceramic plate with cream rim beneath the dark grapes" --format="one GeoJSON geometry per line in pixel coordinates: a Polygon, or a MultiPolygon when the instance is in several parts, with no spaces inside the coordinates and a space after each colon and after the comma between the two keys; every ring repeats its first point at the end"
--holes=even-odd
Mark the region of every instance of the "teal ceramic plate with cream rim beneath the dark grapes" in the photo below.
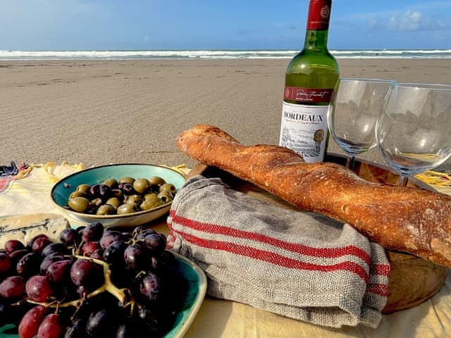
{"type": "MultiPolygon", "coordinates": [[[[197,315],[206,292],[206,277],[198,265],[184,256],[174,253],[180,267],[180,273],[188,282],[188,291],[183,300],[183,306],[175,317],[175,324],[164,338],[182,338],[197,315]]],[[[13,325],[0,328],[0,338],[19,338],[13,325]]]]}

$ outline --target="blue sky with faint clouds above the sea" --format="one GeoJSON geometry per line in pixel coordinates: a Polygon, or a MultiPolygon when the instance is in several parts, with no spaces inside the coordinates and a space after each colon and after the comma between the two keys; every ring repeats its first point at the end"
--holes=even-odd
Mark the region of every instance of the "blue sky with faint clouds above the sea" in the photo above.
{"type": "MultiPolygon", "coordinates": [[[[0,49],[294,49],[308,0],[1,0],[0,49]]],[[[451,0],[334,0],[329,49],[451,49],[451,0]]]]}

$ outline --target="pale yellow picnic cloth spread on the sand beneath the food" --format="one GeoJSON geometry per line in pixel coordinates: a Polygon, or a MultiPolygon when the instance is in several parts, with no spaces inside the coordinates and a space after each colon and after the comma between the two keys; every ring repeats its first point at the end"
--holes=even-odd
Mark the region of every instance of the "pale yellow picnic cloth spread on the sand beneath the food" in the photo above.
{"type": "MultiPolygon", "coordinates": [[[[9,182],[7,189],[0,193],[0,216],[61,213],[51,202],[51,187],[61,177],[82,168],[81,163],[30,166],[30,170],[20,173],[18,180],[9,182]]],[[[428,173],[417,178],[434,183],[432,187],[440,192],[451,194],[449,178],[440,175],[443,174],[428,173]]],[[[165,234],[168,232],[164,222],[152,227],[165,234]]],[[[207,296],[185,337],[451,337],[451,275],[448,273],[443,288],[428,301],[415,308],[383,315],[377,329],[362,325],[341,329],[320,327],[207,296]]]]}

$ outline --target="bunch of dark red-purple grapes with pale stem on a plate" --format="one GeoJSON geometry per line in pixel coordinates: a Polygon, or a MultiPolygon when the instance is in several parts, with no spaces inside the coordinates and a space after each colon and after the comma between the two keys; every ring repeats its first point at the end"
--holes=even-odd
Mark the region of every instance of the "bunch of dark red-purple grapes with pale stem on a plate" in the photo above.
{"type": "Polygon", "coordinates": [[[39,234],[0,249],[0,327],[21,338],[162,337],[173,326],[186,280],[166,237],[91,223],[53,242],[39,234]]]}

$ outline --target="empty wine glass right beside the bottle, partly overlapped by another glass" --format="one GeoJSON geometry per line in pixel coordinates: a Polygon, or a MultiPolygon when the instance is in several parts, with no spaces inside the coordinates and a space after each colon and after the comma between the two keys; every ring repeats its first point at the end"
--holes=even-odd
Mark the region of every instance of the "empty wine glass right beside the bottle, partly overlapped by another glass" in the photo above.
{"type": "Polygon", "coordinates": [[[374,127],[381,115],[392,80],[341,78],[335,84],[328,108],[333,140],[347,154],[346,168],[355,156],[376,146],[374,127]]]}

